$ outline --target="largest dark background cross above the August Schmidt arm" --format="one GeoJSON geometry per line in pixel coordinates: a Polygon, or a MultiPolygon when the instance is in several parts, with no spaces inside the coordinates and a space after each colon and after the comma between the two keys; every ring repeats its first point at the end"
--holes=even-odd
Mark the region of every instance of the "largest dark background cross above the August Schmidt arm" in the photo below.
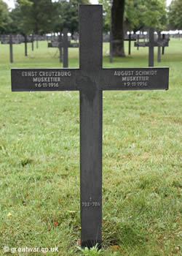
{"type": "Polygon", "coordinates": [[[154,40],[154,29],[149,29],[149,42],[135,42],[135,47],[149,47],[149,67],[154,67],[154,47],[164,47],[169,45],[169,41],[157,42],[154,40]]]}

